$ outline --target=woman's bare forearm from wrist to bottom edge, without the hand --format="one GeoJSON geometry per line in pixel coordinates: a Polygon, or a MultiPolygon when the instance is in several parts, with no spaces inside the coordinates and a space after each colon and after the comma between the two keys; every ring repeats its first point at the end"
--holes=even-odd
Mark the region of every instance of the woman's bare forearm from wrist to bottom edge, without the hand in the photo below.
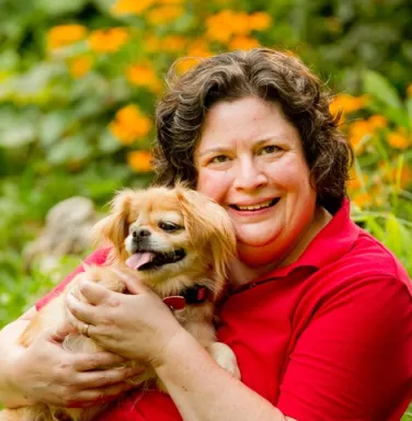
{"type": "Polygon", "coordinates": [[[164,348],[156,372],[187,421],[293,421],[225,372],[183,329],[164,348]]]}

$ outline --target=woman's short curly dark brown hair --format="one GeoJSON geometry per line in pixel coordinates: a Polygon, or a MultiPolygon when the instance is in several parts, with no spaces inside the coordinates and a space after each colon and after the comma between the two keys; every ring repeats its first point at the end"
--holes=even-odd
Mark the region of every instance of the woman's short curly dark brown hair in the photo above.
{"type": "Polygon", "coordinates": [[[346,196],[353,150],[329,111],[330,95],[296,57],[268,48],[224,53],[202,59],[176,77],[157,105],[154,182],[182,180],[195,189],[194,151],[207,111],[218,101],[258,96],[281,104],[298,129],[318,204],[335,213],[346,196]]]}

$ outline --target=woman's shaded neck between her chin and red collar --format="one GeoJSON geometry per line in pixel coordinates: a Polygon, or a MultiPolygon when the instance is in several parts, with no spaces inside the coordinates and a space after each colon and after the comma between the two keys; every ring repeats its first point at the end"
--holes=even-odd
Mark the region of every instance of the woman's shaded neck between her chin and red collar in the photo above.
{"type": "Polygon", "coordinates": [[[244,285],[254,278],[268,273],[276,268],[287,266],[296,262],[308,248],[313,238],[330,223],[332,215],[323,207],[318,207],[312,224],[309,226],[301,239],[293,247],[291,251],[283,258],[275,259],[273,263],[262,266],[251,266],[236,259],[230,265],[230,281],[234,286],[244,285]]]}

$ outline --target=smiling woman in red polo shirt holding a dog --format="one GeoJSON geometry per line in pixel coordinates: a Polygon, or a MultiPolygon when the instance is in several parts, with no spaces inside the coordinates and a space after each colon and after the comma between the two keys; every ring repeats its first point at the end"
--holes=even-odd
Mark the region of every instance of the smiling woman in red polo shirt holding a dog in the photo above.
{"type": "MultiPolygon", "coordinates": [[[[318,79],[278,52],[221,54],[170,83],[157,124],[158,182],[188,181],[233,221],[239,259],[218,335],[242,382],[144,285],[125,278],[133,294],[119,295],[84,283],[88,303],[67,299],[73,325],[123,359],[150,360],[170,392],[133,391],[99,420],[399,420],[412,390],[409,278],[350,219],[352,151],[318,79]]],[[[8,406],[87,406],[125,390],[135,373],[103,369],[118,356],[67,354],[65,332],[16,348],[34,311],[1,332],[8,406]]]]}

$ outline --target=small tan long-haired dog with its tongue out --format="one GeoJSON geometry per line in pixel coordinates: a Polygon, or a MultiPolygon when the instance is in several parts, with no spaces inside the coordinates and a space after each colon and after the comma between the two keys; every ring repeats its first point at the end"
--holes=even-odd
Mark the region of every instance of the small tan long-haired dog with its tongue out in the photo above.
{"type": "MultiPolygon", "coordinates": [[[[46,327],[68,325],[65,295],[79,280],[87,278],[112,291],[125,292],[124,283],[111,271],[116,268],[135,274],[137,271],[141,281],[171,306],[180,323],[217,363],[240,377],[233,352],[216,342],[213,327],[214,303],[224,291],[228,262],[236,250],[230,218],[219,205],[182,186],[124,190],[113,200],[111,215],[93,228],[93,236],[112,246],[107,263],[100,268],[87,266],[84,273],[77,275],[60,296],[36,315],[21,338],[22,345],[28,346],[46,327]]],[[[80,332],[68,335],[62,345],[72,352],[101,350],[80,332]]],[[[138,386],[149,379],[154,379],[162,388],[150,366],[134,383],[138,386]]],[[[35,405],[7,409],[0,412],[0,420],[69,418],[89,421],[103,408],[65,409],[35,405]]]]}

